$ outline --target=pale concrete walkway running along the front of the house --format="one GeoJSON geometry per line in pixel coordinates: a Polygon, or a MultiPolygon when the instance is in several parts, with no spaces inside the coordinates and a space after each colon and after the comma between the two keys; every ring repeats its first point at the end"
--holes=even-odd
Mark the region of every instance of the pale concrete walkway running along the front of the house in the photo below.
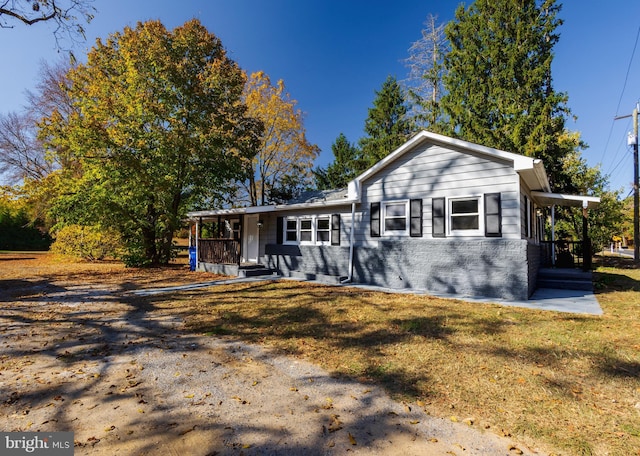
{"type": "MultiPolygon", "coordinates": [[[[297,280],[314,282],[312,280],[297,279],[297,278],[282,278],[275,276],[257,276],[257,277],[237,277],[224,280],[214,280],[209,282],[198,282],[188,285],[179,285],[175,287],[163,287],[163,288],[149,288],[144,290],[134,290],[128,292],[129,294],[137,296],[152,296],[156,294],[170,293],[173,291],[195,290],[200,288],[213,287],[216,285],[228,285],[233,283],[249,283],[260,282],[265,280],[297,280]]],[[[321,283],[321,282],[318,282],[321,283]]],[[[530,299],[526,301],[511,301],[507,299],[499,298],[479,298],[474,296],[461,296],[461,295],[446,295],[429,293],[425,290],[410,290],[410,289],[392,289],[384,288],[373,285],[361,285],[361,284],[327,284],[322,282],[323,285],[331,286],[349,286],[354,288],[361,288],[370,291],[381,291],[385,293],[406,293],[406,294],[426,294],[445,299],[458,299],[467,302],[483,302],[494,303],[503,306],[524,307],[528,309],[537,310],[551,310],[555,312],[569,312],[577,314],[588,315],[602,315],[602,308],[596,299],[595,294],[592,291],[583,290],[559,290],[551,288],[538,288],[530,299]]]]}

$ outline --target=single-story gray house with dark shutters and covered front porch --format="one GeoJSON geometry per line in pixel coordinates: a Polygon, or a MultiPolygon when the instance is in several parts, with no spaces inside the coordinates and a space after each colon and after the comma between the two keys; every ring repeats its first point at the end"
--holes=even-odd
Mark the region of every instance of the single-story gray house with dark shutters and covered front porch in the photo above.
{"type": "Polygon", "coordinates": [[[287,204],[188,214],[197,269],[527,299],[543,262],[538,208],[599,198],[552,193],[543,163],[421,131],[347,189],[287,204]],[[204,237],[204,236],[206,237],[204,237]]]}

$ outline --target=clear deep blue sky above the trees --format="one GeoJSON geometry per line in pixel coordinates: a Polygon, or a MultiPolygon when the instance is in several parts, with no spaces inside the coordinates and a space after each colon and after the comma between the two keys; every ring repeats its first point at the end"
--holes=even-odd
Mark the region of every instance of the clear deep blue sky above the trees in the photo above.
{"type": "MultiPolygon", "coordinates": [[[[308,139],[322,150],[316,164],[332,159],[339,133],[351,142],[364,135],[367,109],[388,75],[407,76],[403,60],[420,37],[427,15],[453,18],[458,0],[95,0],[96,18],[87,42],[74,50],[79,59],[97,37],[105,38],[138,21],[160,19],[173,28],[191,18],[221,40],[247,72],[264,70],[283,79],[305,113],[308,139]]],[[[467,2],[469,3],[469,2],[467,2]]],[[[566,0],[555,48],[554,87],[567,92],[577,117],[567,127],[579,131],[590,166],[601,164],[612,189],[633,180],[626,145],[631,114],[640,99],[640,2],[566,0]],[[633,58],[632,58],[633,57],[633,58]],[[625,84],[626,80],[626,84],[625,84]]],[[[0,112],[20,110],[24,91],[34,87],[42,60],[62,58],[52,26],[17,24],[0,29],[2,71],[0,112]]]]}

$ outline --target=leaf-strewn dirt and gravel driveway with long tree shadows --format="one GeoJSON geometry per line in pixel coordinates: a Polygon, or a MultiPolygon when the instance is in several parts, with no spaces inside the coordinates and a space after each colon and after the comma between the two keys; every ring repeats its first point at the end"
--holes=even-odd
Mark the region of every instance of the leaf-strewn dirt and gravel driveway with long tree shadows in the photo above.
{"type": "Polygon", "coordinates": [[[134,292],[164,282],[18,260],[33,261],[20,279],[0,258],[0,430],[73,431],[78,455],[536,454],[301,360],[190,333],[179,311],[134,292]]]}

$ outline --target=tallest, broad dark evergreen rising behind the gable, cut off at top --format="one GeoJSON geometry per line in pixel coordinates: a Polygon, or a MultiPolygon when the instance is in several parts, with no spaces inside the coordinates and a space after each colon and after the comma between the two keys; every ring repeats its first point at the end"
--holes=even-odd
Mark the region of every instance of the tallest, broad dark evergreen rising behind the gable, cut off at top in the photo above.
{"type": "Polygon", "coordinates": [[[449,133],[543,159],[552,185],[564,190],[561,144],[567,95],[552,85],[551,63],[562,21],[555,0],[476,0],[446,27],[449,133]]]}

